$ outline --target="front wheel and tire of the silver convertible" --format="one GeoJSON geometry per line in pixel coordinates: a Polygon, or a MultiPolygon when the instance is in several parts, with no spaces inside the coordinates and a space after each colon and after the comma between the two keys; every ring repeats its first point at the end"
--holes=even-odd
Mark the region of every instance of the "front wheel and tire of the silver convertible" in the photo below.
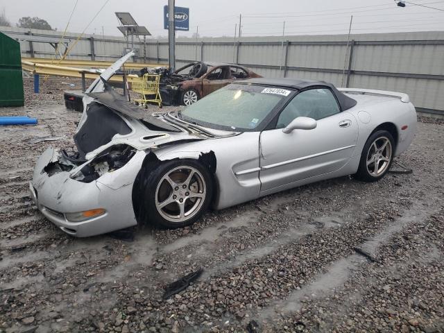
{"type": "Polygon", "coordinates": [[[164,162],[148,176],[144,203],[148,220],[164,228],[196,222],[212,198],[210,172],[195,160],[164,162]]]}

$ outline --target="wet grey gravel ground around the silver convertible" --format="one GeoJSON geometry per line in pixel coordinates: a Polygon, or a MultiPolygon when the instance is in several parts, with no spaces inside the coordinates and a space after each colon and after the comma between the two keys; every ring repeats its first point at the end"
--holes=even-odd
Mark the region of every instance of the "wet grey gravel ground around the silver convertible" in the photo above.
{"type": "Polygon", "coordinates": [[[0,332],[444,332],[442,122],[419,119],[398,159],[413,174],[318,182],[134,241],[74,239],[27,191],[47,146],[74,145],[61,82],[38,96],[26,82],[26,106],[0,109],[39,119],[0,128],[0,332]],[[31,143],[47,136],[62,138],[31,143]]]}

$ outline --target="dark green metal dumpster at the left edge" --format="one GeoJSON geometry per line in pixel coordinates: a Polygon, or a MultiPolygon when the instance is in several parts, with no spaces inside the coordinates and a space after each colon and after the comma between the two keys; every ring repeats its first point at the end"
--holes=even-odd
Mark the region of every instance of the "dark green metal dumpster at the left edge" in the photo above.
{"type": "Polygon", "coordinates": [[[0,107],[23,105],[20,44],[0,33],[0,107]]]}

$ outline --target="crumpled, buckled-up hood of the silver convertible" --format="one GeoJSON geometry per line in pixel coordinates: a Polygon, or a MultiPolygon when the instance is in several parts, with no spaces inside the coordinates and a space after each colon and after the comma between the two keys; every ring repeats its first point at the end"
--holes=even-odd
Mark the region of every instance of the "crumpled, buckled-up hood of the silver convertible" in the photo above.
{"type": "Polygon", "coordinates": [[[128,144],[138,150],[155,148],[171,142],[192,142],[239,133],[201,128],[165,114],[149,114],[131,105],[114,92],[107,80],[133,52],[108,67],[87,89],[85,105],[74,142],[80,157],[91,159],[115,144],[128,144]]]}

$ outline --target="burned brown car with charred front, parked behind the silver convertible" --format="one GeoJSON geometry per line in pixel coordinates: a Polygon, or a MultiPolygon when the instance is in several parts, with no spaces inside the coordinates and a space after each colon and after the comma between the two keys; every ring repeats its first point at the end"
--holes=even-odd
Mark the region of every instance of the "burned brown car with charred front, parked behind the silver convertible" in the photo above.
{"type": "MultiPolygon", "coordinates": [[[[233,81],[261,77],[239,65],[202,61],[191,62],[174,73],[166,67],[151,71],[161,75],[160,96],[164,105],[191,105],[233,81]]],[[[140,74],[148,72],[143,69],[140,74]]]]}

